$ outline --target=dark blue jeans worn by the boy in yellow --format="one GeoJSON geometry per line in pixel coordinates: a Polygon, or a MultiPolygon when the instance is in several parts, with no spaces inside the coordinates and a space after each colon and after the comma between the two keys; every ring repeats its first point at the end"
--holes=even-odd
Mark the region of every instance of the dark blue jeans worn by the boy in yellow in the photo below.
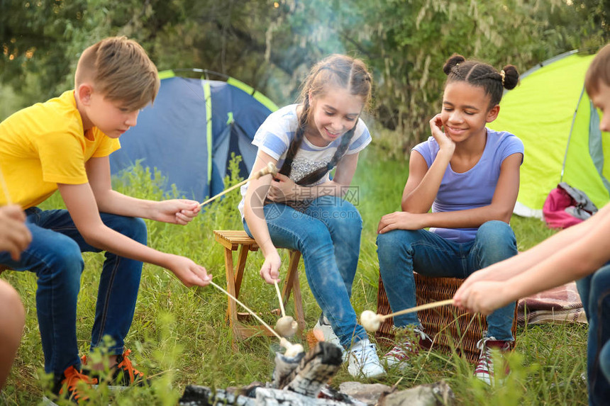
{"type": "MultiPolygon", "coordinates": [[[[112,230],[146,244],[145,222],[140,218],[100,213],[112,230]]],[[[61,376],[69,366],[79,366],[76,334],[77,296],[84,269],[81,252],[100,252],[84,241],[67,210],[26,210],[26,225],[32,233],[30,246],[13,261],[0,252],[0,264],[16,271],[31,271],[38,277],[36,312],[45,354],[45,371],[61,376]]],[[[123,353],[125,339],[140,287],[142,262],[106,252],[101,271],[91,349],[109,335],[109,354],[123,353]]]]}

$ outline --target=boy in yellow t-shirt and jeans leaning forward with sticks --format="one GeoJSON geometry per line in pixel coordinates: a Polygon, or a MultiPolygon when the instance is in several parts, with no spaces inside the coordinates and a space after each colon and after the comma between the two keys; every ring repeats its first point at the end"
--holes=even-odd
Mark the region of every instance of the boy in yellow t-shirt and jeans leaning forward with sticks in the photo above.
{"type": "Polygon", "coordinates": [[[11,199],[21,205],[33,237],[21,259],[0,252],[0,264],[38,277],[36,310],[45,371],[55,374],[55,393],[77,400],[76,384],[94,382],[80,373],[76,337],[81,252],[106,251],[91,350],[102,337],[111,337],[111,367],[117,379],[123,378],[119,385],[143,379],[123,348],[142,262],[169,269],[186,286],[206,286],[211,280],[194,261],[147,247],[140,219],[186,225],[199,213],[196,201],[145,201],[111,188],[108,156],[118,150],[118,137],[135,125],[140,108],[154,101],[158,89],[157,69],[138,43],[106,38],[82,53],[73,91],[0,123],[0,169],[10,195],[0,192],[0,205],[11,199]],[[67,210],[36,207],[57,189],[67,210]]]}

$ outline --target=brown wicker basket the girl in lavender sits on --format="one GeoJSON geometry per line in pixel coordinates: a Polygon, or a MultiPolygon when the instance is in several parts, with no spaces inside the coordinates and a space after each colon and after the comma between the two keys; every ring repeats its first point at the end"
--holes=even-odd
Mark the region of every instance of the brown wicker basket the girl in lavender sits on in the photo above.
{"type": "MultiPolygon", "coordinates": [[[[462,284],[462,279],[457,278],[430,278],[421,276],[416,272],[414,272],[414,276],[417,305],[453,298],[455,291],[462,284]]],[[[388,315],[391,312],[382,278],[379,277],[377,313],[388,315]]],[[[477,342],[483,337],[483,332],[487,329],[485,317],[478,314],[472,315],[454,306],[441,306],[440,308],[423,310],[418,312],[418,317],[426,334],[433,339],[433,349],[448,354],[457,351],[465,356],[468,361],[477,362],[480,352],[477,349],[477,342]]],[[[516,337],[516,320],[515,308],[512,325],[513,337],[516,337]]],[[[375,333],[377,342],[382,346],[394,344],[393,325],[394,320],[389,317],[382,322],[381,327],[375,333]]]]}

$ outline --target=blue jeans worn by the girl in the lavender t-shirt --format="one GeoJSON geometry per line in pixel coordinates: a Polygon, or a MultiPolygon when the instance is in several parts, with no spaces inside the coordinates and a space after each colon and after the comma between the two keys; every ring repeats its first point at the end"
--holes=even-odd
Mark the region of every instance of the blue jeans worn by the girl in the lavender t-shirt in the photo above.
{"type": "MultiPolygon", "coordinates": [[[[427,230],[392,230],[377,235],[379,273],[392,312],[413,308],[415,278],[423,276],[467,278],[475,271],[517,254],[511,226],[498,220],[485,222],[471,242],[453,242],[427,230]]],[[[487,337],[512,341],[515,303],[487,316],[487,337]]],[[[415,313],[394,317],[396,327],[419,325],[415,313]]]]}

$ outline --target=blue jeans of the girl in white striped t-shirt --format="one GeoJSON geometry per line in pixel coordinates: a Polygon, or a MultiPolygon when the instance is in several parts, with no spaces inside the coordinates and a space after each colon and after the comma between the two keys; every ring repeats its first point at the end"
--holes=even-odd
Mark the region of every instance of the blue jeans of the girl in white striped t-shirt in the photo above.
{"type": "Polygon", "coordinates": [[[264,211],[273,244],[301,252],[311,293],[341,345],[368,338],[350,303],[362,232],[358,210],[341,198],[323,196],[304,210],[270,203],[264,211]]]}

